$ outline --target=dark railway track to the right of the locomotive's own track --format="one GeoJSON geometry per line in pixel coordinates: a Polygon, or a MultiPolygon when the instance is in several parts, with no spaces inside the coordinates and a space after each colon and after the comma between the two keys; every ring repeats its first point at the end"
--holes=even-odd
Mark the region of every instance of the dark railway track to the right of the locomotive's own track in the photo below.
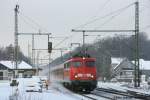
{"type": "Polygon", "coordinates": [[[150,95],[141,94],[134,91],[118,91],[114,89],[96,88],[91,94],[107,98],[109,100],[150,100],[150,95]]]}

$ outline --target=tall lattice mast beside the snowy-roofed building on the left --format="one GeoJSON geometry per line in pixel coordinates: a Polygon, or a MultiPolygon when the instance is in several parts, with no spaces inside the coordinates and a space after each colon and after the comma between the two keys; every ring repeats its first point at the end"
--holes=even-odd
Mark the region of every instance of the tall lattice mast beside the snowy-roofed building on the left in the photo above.
{"type": "Polygon", "coordinates": [[[18,11],[19,5],[16,5],[14,11],[15,11],[15,33],[14,33],[14,39],[15,39],[15,47],[14,47],[14,66],[15,66],[15,77],[18,76],[18,11]]]}

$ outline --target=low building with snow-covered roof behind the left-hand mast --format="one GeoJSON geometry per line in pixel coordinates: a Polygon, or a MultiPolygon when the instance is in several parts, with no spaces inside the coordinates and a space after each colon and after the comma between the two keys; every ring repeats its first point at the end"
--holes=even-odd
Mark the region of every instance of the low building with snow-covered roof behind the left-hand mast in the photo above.
{"type": "Polygon", "coordinates": [[[18,71],[18,77],[29,77],[36,73],[36,69],[24,61],[18,63],[17,69],[12,61],[0,61],[0,80],[13,78],[15,70],[18,71]]]}

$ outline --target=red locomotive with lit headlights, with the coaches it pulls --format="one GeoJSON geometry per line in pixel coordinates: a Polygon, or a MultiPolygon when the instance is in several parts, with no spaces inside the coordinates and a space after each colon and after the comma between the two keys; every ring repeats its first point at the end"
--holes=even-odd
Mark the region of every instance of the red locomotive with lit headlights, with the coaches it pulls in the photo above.
{"type": "Polygon", "coordinates": [[[51,78],[73,90],[92,91],[97,86],[95,58],[74,57],[51,68],[51,78]]]}

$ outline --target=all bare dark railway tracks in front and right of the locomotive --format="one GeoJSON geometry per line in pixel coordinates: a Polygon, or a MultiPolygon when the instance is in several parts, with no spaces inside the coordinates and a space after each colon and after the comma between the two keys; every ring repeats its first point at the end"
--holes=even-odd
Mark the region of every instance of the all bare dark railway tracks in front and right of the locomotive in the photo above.
{"type": "Polygon", "coordinates": [[[125,92],[106,88],[96,88],[90,94],[79,94],[88,100],[150,100],[150,95],[141,94],[135,91],[125,92]]]}

